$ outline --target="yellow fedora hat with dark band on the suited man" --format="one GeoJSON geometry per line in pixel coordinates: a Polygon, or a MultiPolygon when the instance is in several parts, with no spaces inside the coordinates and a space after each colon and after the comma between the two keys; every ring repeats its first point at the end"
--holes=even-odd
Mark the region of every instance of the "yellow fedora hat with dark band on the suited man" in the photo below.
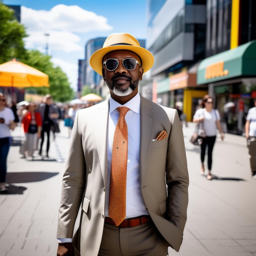
{"type": "Polygon", "coordinates": [[[98,74],[102,75],[102,58],[108,52],[115,50],[129,50],[139,55],[144,72],[147,72],[153,66],[153,55],[147,49],[141,47],[135,37],[127,33],[114,33],[108,36],[103,47],[94,52],[90,58],[90,65],[98,74]]]}

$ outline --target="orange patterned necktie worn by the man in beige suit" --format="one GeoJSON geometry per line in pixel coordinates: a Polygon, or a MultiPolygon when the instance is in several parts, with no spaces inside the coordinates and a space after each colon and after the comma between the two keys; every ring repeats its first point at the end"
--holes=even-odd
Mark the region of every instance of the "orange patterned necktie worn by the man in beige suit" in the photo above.
{"type": "Polygon", "coordinates": [[[119,226],[126,216],[126,171],[128,129],[124,119],[129,108],[118,107],[119,119],[115,128],[109,191],[109,217],[119,226]]]}

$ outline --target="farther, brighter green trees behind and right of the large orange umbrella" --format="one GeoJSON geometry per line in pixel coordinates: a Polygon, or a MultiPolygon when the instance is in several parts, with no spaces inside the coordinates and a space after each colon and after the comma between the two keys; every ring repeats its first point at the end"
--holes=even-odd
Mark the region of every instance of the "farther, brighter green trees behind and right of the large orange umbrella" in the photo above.
{"type": "Polygon", "coordinates": [[[49,76],[49,88],[29,88],[27,89],[27,92],[36,92],[40,95],[50,93],[54,101],[70,101],[74,98],[74,91],[70,87],[67,75],[60,67],[54,67],[54,64],[50,61],[51,58],[51,56],[42,54],[37,50],[28,50],[26,56],[20,59],[23,63],[34,67],[49,76]]]}

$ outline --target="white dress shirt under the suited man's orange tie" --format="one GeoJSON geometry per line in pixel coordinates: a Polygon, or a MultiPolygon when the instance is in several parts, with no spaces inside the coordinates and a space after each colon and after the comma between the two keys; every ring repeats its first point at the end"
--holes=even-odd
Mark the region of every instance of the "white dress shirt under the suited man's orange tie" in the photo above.
{"type": "Polygon", "coordinates": [[[140,96],[139,93],[130,101],[121,105],[110,97],[109,121],[108,121],[108,183],[106,187],[106,209],[108,216],[109,187],[112,160],[112,146],[115,127],[119,118],[117,107],[127,107],[130,110],[125,116],[128,128],[128,161],[126,176],[126,218],[134,218],[148,215],[139,182],[139,146],[140,146],[140,96]]]}

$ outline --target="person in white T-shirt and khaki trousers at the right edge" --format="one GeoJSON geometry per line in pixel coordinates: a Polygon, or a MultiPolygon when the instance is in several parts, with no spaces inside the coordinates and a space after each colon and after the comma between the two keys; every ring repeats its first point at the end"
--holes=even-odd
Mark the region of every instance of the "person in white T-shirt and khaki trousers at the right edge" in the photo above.
{"type": "Polygon", "coordinates": [[[256,177],[256,99],[254,107],[250,108],[245,122],[245,137],[249,150],[249,159],[251,166],[251,177],[256,177]]]}

